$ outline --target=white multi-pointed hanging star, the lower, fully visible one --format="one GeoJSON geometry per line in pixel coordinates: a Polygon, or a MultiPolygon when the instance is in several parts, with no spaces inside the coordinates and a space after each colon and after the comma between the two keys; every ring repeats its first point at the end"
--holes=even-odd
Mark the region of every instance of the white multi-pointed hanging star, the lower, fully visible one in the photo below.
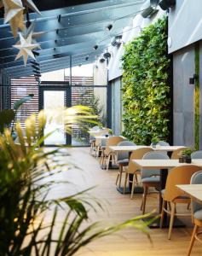
{"type": "Polygon", "coordinates": [[[20,52],[15,58],[15,61],[23,56],[24,64],[26,66],[28,56],[31,56],[32,59],[36,60],[32,50],[38,47],[39,44],[32,44],[32,33],[29,34],[28,38],[23,38],[22,34],[20,33],[20,44],[14,45],[14,48],[20,49],[20,52]]]}

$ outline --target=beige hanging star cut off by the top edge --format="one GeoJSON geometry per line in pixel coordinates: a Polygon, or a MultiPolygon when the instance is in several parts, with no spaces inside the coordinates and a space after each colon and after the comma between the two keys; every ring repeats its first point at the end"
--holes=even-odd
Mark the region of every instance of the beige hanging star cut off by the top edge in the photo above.
{"type": "Polygon", "coordinates": [[[14,38],[17,37],[18,29],[23,30],[24,28],[24,7],[21,0],[2,0],[4,6],[4,24],[10,24],[14,38]]]}

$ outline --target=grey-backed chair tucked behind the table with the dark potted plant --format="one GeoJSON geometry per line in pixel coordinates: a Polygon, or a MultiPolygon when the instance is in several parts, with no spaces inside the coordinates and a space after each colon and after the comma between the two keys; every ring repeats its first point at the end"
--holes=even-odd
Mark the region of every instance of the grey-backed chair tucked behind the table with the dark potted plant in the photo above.
{"type": "MultiPolygon", "coordinates": [[[[169,160],[169,156],[164,153],[159,152],[148,152],[143,156],[145,160],[169,160]]],[[[141,183],[144,189],[141,201],[141,211],[145,214],[145,207],[147,201],[147,191],[148,188],[159,188],[160,186],[160,170],[157,169],[141,169],[141,183]]]]}

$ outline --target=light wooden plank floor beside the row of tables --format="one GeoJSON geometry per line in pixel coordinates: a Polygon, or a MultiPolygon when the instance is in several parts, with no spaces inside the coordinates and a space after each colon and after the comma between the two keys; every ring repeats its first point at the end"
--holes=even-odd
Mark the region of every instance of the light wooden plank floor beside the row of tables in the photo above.
{"type": "MultiPolygon", "coordinates": [[[[102,202],[105,212],[101,210],[96,214],[91,212],[90,217],[92,221],[101,221],[101,226],[105,226],[107,223],[116,224],[141,214],[141,195],[135,195],[134,199],[130,200],[130,195],[121,195],[116,190],[115,179],[117,171],[101,170],[98,161],[89,155],[89,148],[68,148],[65,150],[68,154],[71,154],[66,156],[66,162],[69,163],[71,161],[80,169],[72,167],[71,170],[62,172],[59,179],[62,178],[74,184],[55,187],[52,191],[53,195],[66,195],[75,191],[75,189],[80,190],[96,186],[90,193],[102,202]]],[[[182,207],[180,211],[186,209],[186,207],[182,207]]],[[[147,198],[147,212],[152,211],[154,208],[158,208],[158,195],[152,193],[147,198]]],[[[147,236],[142,234],[141,231],[130,228],[120,231],[117,235],[94,241],[88,247],[84,247],[79,251],[78,255],[187,255],[193,226],[190,218],[186,217],[182,218],[182,220],[185,220],[187,227],[174,229],[170,241],[167,239],[167,229],[150,230],[153,240],[153,244],[151,244],[147,236]]],[[[202,247],[198,241],[194,244],[192,255],[202,255],[202,247]]]]}

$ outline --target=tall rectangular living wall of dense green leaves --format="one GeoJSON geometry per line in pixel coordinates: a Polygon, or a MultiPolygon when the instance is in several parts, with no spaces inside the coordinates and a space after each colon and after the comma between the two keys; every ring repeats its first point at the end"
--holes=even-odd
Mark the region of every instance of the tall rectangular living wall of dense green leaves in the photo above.
{"type": "Polygon", "coordinates": [[[170,136],[170,59],[167,22],[158,20],[125,46],[124,136],[138,144],[170,136]]]}

